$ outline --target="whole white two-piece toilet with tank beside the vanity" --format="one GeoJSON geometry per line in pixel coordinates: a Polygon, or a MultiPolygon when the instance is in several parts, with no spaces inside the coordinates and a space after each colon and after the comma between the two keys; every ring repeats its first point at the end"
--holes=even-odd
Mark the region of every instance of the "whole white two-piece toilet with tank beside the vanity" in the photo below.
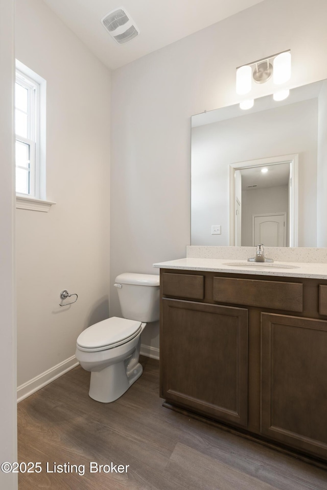
{"type": "Polygon", "coordinates": [[[124,273],[115,282],[124,318],[113,316],[85,329],[75,354],[91,372],[89,396],[103,403],[117,400],[141,376],[141,333],[159,320],[159,276],[124,273]]]}

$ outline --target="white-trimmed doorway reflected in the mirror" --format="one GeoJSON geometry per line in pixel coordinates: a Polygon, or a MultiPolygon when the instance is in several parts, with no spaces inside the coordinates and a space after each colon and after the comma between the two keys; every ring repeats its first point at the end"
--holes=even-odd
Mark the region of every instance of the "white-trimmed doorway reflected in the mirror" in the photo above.
{"type": "Polygon", "coordinates": [[[229,242],[296,247],[298,155],[229,165],[229,242]]]}

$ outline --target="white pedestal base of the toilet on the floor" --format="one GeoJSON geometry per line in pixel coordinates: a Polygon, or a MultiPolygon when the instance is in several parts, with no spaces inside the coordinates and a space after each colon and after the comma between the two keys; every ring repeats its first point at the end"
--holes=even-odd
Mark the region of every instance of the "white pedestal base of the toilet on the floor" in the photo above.
{"type": "Polygon", "coordinates": [[[102,371],[92,371],[89,396],[102,403],[117,400],[142,375],[143,367],[137,362],[128,369],[126,361],[116,362],[102,371]]]}

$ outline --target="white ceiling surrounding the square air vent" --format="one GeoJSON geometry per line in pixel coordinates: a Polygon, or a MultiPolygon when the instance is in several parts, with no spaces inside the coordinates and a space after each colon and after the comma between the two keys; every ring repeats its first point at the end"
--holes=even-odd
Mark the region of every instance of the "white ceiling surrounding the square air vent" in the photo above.
{"type": "Polygon", "coordinates": [[[43,0],[110,69],[116,69],[263,0],[43,0]],[[117,44],[101,19],[123,7],[139,35],[117,44]]]}

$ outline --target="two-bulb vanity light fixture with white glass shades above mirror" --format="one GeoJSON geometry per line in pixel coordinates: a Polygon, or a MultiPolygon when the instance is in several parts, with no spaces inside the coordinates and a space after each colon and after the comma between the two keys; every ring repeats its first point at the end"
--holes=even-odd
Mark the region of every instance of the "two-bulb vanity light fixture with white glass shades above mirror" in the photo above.
{"type": "Polygon", "coordinates": [[[281,85],[291,78],[291,52],[277,53],[236,69],[236,93],[244,95],[251,91],[252,78],[256,83],[265,83],[273,76],[273,82],[281,85]]]}

